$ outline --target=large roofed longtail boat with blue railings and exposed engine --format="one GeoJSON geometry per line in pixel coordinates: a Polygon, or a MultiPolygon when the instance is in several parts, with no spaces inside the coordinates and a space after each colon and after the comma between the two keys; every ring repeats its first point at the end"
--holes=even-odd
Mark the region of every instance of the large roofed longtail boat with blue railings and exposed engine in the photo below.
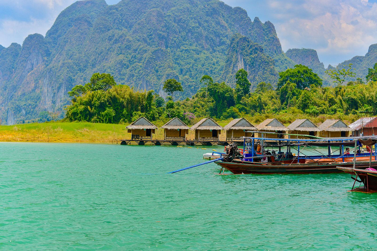
{"type": "Polygon", "coordinates": [[[215,163],[221,166],[220,174],[225,170],[233,174],[313,174],[342,172],[339,167],[361,168],[368,165],[377,168],[377,144],[374,145],[374,152],[371,149],[370,153],[362,153],[360,139],[364,138],[244,137],[244,147],[241,152],[237,146],[230,144],[227,152],[215,163]],[[318,147],[322,147],[320,148],[322,150],[327,148],[327,152],[319,151],[318,147]],[[350,147],[353,148],[350,150],[350,147]]]}

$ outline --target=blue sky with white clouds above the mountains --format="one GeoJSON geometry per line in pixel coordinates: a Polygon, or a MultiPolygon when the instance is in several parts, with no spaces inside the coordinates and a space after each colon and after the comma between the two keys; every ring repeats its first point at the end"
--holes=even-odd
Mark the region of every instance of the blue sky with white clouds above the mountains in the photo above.
{"type": "MultiPolygon", "coordinates": [[[[45,35],[59,13],[76,0],[0,0],[0,45],[45,35]]],[[[119,0],[106,0],[116,4],[119,0]]],[[[223,0],[251,18],[275,25],[284,51],[310,48],[325,67],[365,55],[377,43],[377,0],[223,0]]]]}

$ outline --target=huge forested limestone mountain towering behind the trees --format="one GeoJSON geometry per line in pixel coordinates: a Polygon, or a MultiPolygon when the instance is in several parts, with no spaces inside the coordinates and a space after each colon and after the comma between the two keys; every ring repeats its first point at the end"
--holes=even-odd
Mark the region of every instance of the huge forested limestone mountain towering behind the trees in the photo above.
{"type": "Polygon", "coordinates": [[[0,47],[0,119],[11,125],[41,111],[63,113],[67,92],[96,72],[160,94],[163,81],[176,78],[184,98],[198,90],[203,75],[231,82],[242,65],[253,83],[275,81],[276,70],[294,65],[273,25],[251,21],[242,8],[219,0],[77,1],[46,37],[33,34],[22,46],[0,47]],[[240,50],[232,49],[235,34],[245,37],[240,50]]]}

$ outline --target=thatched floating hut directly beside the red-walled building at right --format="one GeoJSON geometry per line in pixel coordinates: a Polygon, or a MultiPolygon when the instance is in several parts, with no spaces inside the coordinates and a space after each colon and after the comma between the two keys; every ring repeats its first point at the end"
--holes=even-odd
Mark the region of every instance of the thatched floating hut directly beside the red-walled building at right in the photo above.
{"type": "Polygon", "coordinates": [[[348,137],[352,129],[342,120],[325,120],[320,126],[319,135],[324,138],[348,137]]]}

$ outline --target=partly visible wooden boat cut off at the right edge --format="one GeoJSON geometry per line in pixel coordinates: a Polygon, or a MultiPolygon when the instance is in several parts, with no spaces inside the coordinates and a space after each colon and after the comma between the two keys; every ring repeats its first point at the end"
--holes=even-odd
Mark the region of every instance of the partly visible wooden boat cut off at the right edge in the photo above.
{"type": "MultiPolygon", "coordinates": [[[[376,138],[369,138],[369,139],[359,139],[361,144],[364,144],[369,147],[370,154],[369,154],[369,161],[364,165],[356,165],[356,161],[353,162],[352,167],[343,167],[338,166],[337,169],[348,173],[351,175],[351,178],[354,180],[352,189],[350,192],[365,192],[365,193],[376,193],[377,192],[377,170],[375,169],[376,165],[374,165],[374,156],[372,148],[375,146],[376,150],[376,138]],[[356,177],[353,177],[353,176],[356,177]],[[359,178],[359,179],[358,179],[359,178]],[[359,182],[360,185],[355,187],[356,182],[359,182]],[[360,187],[363,184],[363,187],[360,187]]],[[[376,152],[376,151],[375,151],[376,152]]]]}

